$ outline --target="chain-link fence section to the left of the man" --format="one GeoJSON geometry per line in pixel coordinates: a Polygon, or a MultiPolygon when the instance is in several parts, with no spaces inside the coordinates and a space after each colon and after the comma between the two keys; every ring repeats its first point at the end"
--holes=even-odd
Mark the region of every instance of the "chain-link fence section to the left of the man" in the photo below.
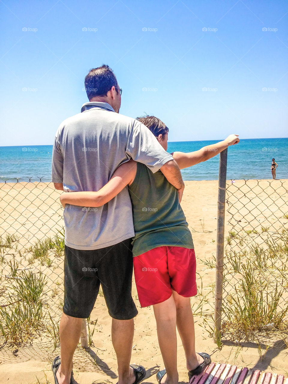
{"type": "Polygon", "coordinates": [[[53,183],[0,184],[0,335],[17,346],[45,334],[59,344],[64,233],[53,183]]]}

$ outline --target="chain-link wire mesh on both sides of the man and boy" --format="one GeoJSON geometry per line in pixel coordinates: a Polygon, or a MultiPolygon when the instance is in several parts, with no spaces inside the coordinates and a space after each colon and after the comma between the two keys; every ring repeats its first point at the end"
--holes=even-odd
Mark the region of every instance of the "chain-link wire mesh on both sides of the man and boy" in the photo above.
{"type": "MultiPolygon", "coordinates": [[[[31,353],[38,347],[43,354],[59,348],[64,296],[60,193],[53,183],[41,181],[0,184],[1,353],[5,343],[16,348],[31,340],[31,353]]],[[[225,215],[222,339],[248,341],[257,333],[287,332],[288,182],[227,183],[225,215]]],[[[21,351],[28,359],[30,350],[25,350],[27,357],[21,351]]]]}

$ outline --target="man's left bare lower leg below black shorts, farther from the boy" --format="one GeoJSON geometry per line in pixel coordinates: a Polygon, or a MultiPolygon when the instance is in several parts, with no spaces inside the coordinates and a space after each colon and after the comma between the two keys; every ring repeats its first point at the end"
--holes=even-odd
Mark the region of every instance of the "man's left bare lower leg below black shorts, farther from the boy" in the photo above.
{"type": "Polygon", "coordinates": [[[82,319],[62,313],[59,327],[61,364],[56,372],[59,384],[70,384],[73,354],[79,343],[82,319]]]}

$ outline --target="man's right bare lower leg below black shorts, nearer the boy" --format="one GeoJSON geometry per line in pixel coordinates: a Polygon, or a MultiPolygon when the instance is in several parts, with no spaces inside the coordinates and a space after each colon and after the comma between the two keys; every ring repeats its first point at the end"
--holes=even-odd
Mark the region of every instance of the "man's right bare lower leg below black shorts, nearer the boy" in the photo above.
{"type": "Polygon", "coordinates": [[[136,380],[134,371],[129,365],[134,336],[134,320],[112,319],[111,334],[118,362],[118,383],[132,384],[136,380]]]}

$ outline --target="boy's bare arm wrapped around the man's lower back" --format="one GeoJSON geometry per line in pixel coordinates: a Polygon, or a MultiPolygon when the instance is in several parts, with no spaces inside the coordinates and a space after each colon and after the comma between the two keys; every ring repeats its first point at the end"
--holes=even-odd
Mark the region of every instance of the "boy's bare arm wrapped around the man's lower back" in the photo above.
{"type": "Polygon", "coordinates": [[[135,179],[136,170],[137,163],[130,160],[121,164],[108,183],[99,191],[63,192],[60,196],[60,202],[63,207],[65,207],[65,204],[79,205],[80,207],[101,207],[135,179]]]}

